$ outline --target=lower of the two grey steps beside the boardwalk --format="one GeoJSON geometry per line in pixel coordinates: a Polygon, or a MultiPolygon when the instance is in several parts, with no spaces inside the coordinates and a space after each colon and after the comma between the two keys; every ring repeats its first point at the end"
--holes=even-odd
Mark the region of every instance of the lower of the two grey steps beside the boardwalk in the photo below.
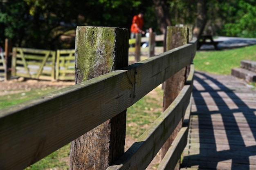
{"type": "Polygon", "coordinates": [[[231,75],[244,79],[246,82],[256,82],[256,73],[244,68],[232,68],[231,75]]]}

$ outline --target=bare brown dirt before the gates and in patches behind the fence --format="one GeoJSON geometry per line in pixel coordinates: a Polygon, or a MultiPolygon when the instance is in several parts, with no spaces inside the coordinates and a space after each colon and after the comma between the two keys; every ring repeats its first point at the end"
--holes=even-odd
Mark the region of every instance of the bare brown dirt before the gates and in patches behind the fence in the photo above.
{"type": "MultiPolygon", "coordinates": [[[[34,80],[34,79],[10,79],[8,81],[0,81],[0,96],[8,95],[13,93],[20,93],[20,89],[26,91],[27,89],[35,89],[35,88],[46,88],[46,87],[57,87],[64,88],[67,86],[74,85],[73,81],[59,81],[59,82],[51,82],[51,81],[42,81],[42,80],[34,80]],[[17,91],[19,89],[19,91],[17,91]]],[[[151,95],[154,95],[155,91],[150,92],[151,95]]],[[[126,137],[125,150],[127,150],[136,140],[131,137],[126,137]]],[[[62,161],[67,162],[69,164],[69,157],[65,157],[62,161]]],[[[156,168],[156,164],[159,163],[160,156],[159,153],[150,163],[146,170],[154,170],[156,168]]],[[[57,168],[56,168],[57,169],[57,168]]]]}

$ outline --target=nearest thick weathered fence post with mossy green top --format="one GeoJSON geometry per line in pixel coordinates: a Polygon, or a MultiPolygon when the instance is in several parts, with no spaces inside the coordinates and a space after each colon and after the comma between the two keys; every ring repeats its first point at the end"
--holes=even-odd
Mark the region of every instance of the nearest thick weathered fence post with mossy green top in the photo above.
{"type": "MultiPolygon", "coordinates": [[[[75,83],[127,66],[128,36],[127,29],[78,26],[75,83]]],[[[126,110],[71,142],[70,170],[105,170],[124,153],[125,135],[126,110]]]]}

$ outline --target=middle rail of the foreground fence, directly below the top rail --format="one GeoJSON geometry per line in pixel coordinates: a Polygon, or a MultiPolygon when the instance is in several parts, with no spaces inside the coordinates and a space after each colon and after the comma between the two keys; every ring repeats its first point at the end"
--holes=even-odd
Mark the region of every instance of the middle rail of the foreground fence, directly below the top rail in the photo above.
{"type": "MultiPolygon", "coordinates": [[[[191,85],[186,85],[173,103],[159,116],[125,154],[107,170],[146,169],[179,124],[189,105],[191,85]]],[[[183,140],[182,140],[183,141],[183,140]]],[[[186,145],[186,144],[185,144],[186,145]]],[[[184,145],[184,147],[185,147],[184,145]]],[[[183,150],[182,148],[180,148],[183,150]]],[[[178,158],[179,159],[179,158],[178,158]]]]}

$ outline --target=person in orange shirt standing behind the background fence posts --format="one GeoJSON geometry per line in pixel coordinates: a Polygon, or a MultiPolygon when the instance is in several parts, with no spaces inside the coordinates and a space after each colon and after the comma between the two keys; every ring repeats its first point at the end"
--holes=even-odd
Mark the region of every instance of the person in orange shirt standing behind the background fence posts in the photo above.
{"type": "Polygon", "coordinates": [[[144,14],[143,12],[139,12],[138,15],[134,15],[132,18],[132,25],[130,29],[130,38],[135,38],[137,33],[144,34],[145,32],[142,30],[142,26],[144,25],[144,14]]]}

